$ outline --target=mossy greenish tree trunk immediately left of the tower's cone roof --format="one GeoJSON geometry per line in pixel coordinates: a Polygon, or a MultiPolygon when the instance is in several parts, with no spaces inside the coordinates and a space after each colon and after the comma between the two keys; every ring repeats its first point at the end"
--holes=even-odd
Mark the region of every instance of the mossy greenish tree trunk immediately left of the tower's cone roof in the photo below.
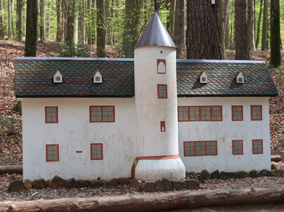
{"type": "Polygon", "coordinates": [[[125,31],[123,33],[122,54],[125,57],[134,56],[134,47],[138,41],[140,9],[142,0],[125,1],[125,31]]]}

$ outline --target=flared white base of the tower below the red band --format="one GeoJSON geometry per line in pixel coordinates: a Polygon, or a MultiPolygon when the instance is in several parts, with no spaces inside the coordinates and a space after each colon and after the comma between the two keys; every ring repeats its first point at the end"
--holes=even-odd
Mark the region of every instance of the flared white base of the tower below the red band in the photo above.
{"type": "Polygon", "coordinates": [[[138,161],[135,168],[136,179],[157,181],[164,177],[169,180],[185,178],[185,166],[180,158],[138,161]]]}

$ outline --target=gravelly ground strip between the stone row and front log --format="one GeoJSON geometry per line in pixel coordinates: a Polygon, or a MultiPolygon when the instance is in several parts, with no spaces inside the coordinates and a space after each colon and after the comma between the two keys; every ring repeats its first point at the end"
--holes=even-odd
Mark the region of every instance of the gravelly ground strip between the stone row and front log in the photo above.
{"type": "MultiPolygon", "coordinates": [[[[137,192],[130,185],[118,185],[117,187],[99,187],[99,188],[77,188],[77,189],[30,189],[20,192],[8,192],[9,181],[16,178],[21,179],[21,174],[1,174],[0,175],[0,201],[29,201],[29,200],[51,200],[57,198],[71,197],[93,197],[93,196],[121,196],[127,194],[144,194],[137,192]]],[[[261,178],[242,178],[229,180],[208,180],[200,183],[200,191],[207,189],[242,189],[242,188],[276,188],[284,187],[284,177],[261,177],[261,178]]],[[[170,192],[170,191],[165,191],[170,192]]],[[[162,193],[162,192],[157,192],[162,193]]]]}

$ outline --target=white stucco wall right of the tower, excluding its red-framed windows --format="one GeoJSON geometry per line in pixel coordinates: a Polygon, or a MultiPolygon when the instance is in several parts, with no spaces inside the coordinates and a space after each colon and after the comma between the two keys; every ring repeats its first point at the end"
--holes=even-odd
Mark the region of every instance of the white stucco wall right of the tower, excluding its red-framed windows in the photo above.
{"type": "Polygon", "coordinates": [[[222,105],[222,122],[179,122],[179,155],[187,171],[270,170],[268,97],[178,98],[178,105],[222,105]],[[243,105],[243,121],[232,121],[231,105],[243,105]],[[262,105],[262,120],[250,120],[250,105],[262,105]],[[252,140],[257,139],[263,140],[263,154],[253,155],[252,140]],[[183,142],[209,140],[217,140],[218,155],[183,156],[183,142]],[[243,140],[243,155],[232,154],[232,140],[243,140]]]}

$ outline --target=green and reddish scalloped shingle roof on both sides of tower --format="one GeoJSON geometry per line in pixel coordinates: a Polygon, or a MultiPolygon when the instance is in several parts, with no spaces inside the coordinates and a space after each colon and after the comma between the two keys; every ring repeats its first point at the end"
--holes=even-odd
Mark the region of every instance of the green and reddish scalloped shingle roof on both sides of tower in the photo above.
{"type": "MultiPolygon", "coordinates": [[[[15,57],[16,97],[132,97],[134,61],[117,58],[15,57]],[[53,83],[57,70],[63,83],[53,83]],[[103,83],[93,83],[99,70],[103,83]]],[[[177,59],[177,94],[181,96],[276,96],[264,62],[177,59]],[[206,71],[208,83],[198,77],[206,71]],[[244,73],[243,84],[236,74],[244,73]]]]}

